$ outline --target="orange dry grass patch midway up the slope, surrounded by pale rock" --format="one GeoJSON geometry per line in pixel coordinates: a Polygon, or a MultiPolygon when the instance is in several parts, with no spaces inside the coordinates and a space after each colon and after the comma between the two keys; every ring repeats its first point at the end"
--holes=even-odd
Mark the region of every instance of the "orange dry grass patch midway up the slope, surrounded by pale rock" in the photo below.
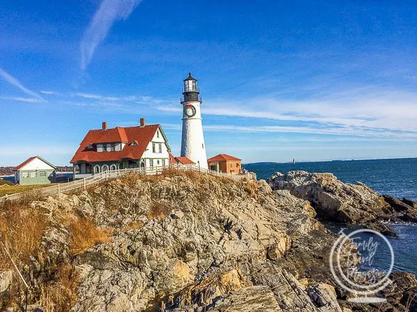
{"type": "Polygon", "coordinates": [[[92,221],[80,218],[70,223],[70,250],[73,254],[79,254],[94,245],[111,241],[112,229],[96,227],[92,221]]]}

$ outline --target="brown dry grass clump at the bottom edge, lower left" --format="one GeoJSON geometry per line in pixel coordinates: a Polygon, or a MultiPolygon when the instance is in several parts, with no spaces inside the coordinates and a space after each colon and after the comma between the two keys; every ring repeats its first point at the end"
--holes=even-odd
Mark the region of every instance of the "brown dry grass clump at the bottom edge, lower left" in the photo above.
{"type": "Polygon", "coordinates": [[[69,264],[58,269],[56,280],[40,287],[39,304],[47,312],[70,311],[74,306],[80,278],[74,266],[69,264]]]}

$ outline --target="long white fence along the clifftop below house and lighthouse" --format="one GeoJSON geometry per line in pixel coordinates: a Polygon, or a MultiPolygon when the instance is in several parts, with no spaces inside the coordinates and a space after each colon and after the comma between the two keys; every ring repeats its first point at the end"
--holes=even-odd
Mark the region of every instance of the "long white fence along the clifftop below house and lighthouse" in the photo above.
{"type": "MultiPolygon", "coordinates": [[[[117,177],[122,177],[128,173],[139,173],[142,175],[158,175],[163,172],[164,169],[167,168],[174,168],[177,170],[182,171],[199,171],[202,173],[209,173],[211,175],[219,175],[222,177],[231,177],[232,179],[242,179],[242,178],[251,178],[251,175],[248,174],[240,174],[240,175],[231,175],[227,173],[222,173],[218,171],[208,170],[206,168],[199,168],[196,165],[171,165],[171,166],[155,166],[153,168],[126,168],[120,170],[113,170],[113,171],[104,171],[101,173],[95,173],[94,175],[90,175],[90,177],[84,177],[81,180],[76,180],[69,183],[61,183],[56,184],[51,187],[44,187],[42,189],[36,189],[44,196],[54,195],[58,193],[65,193],[69,191],[74,191],[76,189],[86,189],[92,184],[96,184],[97,182],[106,181],[108,179],[113,179],[117,177]]],[[[6,195],[0,197],[0,201],[2,200],[15,200],[19,198],[23,193],[15,193],[11,195],[6,195]]]]}

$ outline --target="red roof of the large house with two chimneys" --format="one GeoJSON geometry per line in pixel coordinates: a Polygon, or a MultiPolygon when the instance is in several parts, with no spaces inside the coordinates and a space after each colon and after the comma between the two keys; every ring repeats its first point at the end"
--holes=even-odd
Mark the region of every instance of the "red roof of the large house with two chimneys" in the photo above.
{"type": "Polygon", "coordinates": [[[155,135],[159,125],[145,125],[143,127],[116,127],[107,130],[90,130],[81,141],[79,149],[76,151],[71,163],[74,162],[112,162],[120,161],[121,159],[140,159],[149,141],[155,135]],[[135,141],[137,145],[131,146],[135,141]],[[97,152],[96,150],[89,150],[87,147],[91,144],[97,143],[116,143],[126,142],[123,150],[114,152],[97,152]]]}

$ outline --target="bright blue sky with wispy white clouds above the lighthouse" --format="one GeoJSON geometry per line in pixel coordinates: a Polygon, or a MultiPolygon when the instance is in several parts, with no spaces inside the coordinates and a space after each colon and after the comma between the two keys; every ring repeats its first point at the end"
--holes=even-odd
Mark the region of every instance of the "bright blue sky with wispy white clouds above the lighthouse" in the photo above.
{"type": "Polygon", "coordinates": [[[415,1],[1,1],[0,166],[65,165],[89,129],[181,145],[199,79],[208,157],[417,157],[415,1]]]}

